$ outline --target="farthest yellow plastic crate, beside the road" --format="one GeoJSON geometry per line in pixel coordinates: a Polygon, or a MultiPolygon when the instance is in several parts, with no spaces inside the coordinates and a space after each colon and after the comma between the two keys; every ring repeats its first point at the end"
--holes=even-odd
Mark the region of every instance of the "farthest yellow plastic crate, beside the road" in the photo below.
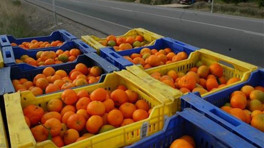
{"type": "MultiPolygon", "coordinates": [[[[127,33],[125,33],[122,36],[117,36],[117,37],[128,37],[128,36],[133,36],[136,37],[138,35],[141,35],[144,37],[144,39],[149,42],[148,45],[154,45],[155,40],[156,39],[160,39],[163,38],[164,36],[161,36],[157,33],[153,33],[151,31],[145,30],[143,28],[135,28],[132,30],[129,30],[127,33]]],[[[102,40],[106,40],[106,38],[98,38],[96,36],[82,36],[81,37],[82,41],[84,41],[85,43],[87,43],[88,45],[90,45],[92,48],[95,48],[98,52],[98,54],[100,54],[100,49],[101,48],[105,48],[106,46],[103,46],[102,44],[100,44],[99,42],[102,40]]]]}

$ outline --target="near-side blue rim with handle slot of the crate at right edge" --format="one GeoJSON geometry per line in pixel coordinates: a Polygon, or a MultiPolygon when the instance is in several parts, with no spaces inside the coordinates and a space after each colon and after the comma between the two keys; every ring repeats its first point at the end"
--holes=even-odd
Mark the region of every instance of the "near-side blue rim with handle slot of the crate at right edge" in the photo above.
{"type": "MultiPolygon", "coordinates": [[[[214,98],[217,99],[217,96],[214,98]]],[[[253,146],[264,147],[263,132],[202,99],[197,92],[182,96],[181,108],[192,108],[253,146]]]]}

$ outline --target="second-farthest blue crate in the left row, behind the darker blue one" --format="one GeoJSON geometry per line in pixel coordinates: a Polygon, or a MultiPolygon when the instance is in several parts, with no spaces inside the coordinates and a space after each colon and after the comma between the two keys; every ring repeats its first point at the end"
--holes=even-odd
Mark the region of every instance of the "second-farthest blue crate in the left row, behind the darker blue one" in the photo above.
{"type": "MultiPolygon", "coordinates": [[[[63,45],[59,47],[50,47],[50,48],[39,48],[38,50],[25,50],[18,46],[11,47],[6,46],[2,48],[3,51],[3,58],[4,58],[4,64],[5,66],[13,66],[13,65],[24,65],[22,66],[25,69],[22,70],[30,70],[30,69],[36,69],[38,67],[29,65],[27,63],[19,63],[16,64],[15,59],[20,59],[20,57],[24,54],[28,55],[29,57],[32,57],[36,59],[36,54],[38,51],[54,51],[61,49],[63,51],[70,50],[72,48],[79,49],[82,54],[94,52],[96,53],[96,50],[91,48],[89,45],[87,45],[85,42],[82,42],[80,39],[74,39],[72,41],[66,41],[63,45]]],[[[50,66],[50,65],[49,65],[50,66]]]]}

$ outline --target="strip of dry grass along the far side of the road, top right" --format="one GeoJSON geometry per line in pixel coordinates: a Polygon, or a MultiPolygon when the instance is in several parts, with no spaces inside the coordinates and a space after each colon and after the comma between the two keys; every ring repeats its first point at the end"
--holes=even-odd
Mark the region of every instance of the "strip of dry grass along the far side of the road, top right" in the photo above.
{"type": "MultiPolygon", "coordinates": [[[[190,9],[201,10],[201,11],[211,11],[211,4],[206,2],[196,2],[190,9]]],[[[230,14],[237,16],[247,16],[254,18],[264,18],[264,8],[259,8],[255,3],[239,3],[235,4],[214,4],[214,13],[230,14]]]]}

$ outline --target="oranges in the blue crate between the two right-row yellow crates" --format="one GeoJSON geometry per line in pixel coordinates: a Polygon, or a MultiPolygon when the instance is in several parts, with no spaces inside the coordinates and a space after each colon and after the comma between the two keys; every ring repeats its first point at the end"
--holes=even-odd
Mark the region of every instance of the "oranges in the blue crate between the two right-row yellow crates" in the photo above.
{"type": "Polygon", "coordinates": [[[124,58],[134,64],[141,64],[145,69],[148,69],[187,59],[188,54],[184,51],[175,54],[170,48],[161,49],[159,51],[157,49],[143,48],[140,54],[134,53],[131,54],[130,57],[124,56],[124,58]]]}

